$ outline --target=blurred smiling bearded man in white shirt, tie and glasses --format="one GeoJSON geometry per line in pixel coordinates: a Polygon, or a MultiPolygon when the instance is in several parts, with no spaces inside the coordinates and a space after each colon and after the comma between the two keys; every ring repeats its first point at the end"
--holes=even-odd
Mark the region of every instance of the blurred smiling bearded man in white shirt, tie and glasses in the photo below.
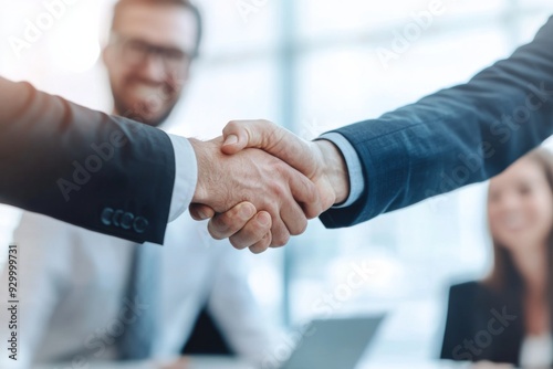
{"type": "MultiPolygon", "coordinates": [[[[170,120],[198,51],[200,24],[186,0],[115,6],[103,53],[115,114],[159,127],[170,120]]],[[[126,219],[114,214],[113,221],[123,225],[126,219]]],[[[25,247],[22,365],[173,358],[204,307],[230,351],[262,362],[273,336],[249,288],[248,255],[205,229],[185,213],[168,224],[159,247],[24,213],[14,235],[25,247]]],[[[6,293],[8,283],[1,286],[6,293]]]]}

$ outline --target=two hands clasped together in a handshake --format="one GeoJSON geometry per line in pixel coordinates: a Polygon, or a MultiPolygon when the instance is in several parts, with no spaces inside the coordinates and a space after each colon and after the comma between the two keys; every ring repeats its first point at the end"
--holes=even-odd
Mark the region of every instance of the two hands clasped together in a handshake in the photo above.
{"type": "Polygon", "coordinates": [[[334,144],[306,141],[267,120],[230,122],[222,137],[190,143],[198,161],[190,214],[210,219],[211,236],[237,249],[283,246],[349,193],[334,144]]]}

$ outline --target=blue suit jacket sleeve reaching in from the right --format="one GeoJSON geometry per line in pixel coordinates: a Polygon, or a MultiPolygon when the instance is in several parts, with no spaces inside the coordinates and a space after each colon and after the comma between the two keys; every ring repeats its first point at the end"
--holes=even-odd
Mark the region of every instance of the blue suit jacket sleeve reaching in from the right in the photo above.
{"type": "Polygon", "coordinates": [[[357,151],[366,186],[351,207],[322,214],[328,228],[498,175],[553,134],[553,18],[467,84],[335,131],[357,151]]]}

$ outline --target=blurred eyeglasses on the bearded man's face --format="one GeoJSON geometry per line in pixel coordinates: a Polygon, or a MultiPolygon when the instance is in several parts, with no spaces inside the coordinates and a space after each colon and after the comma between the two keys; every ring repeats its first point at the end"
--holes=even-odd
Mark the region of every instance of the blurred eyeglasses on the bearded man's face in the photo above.
{"type": "Polygon", "coordinates": [[[176,48],[165,48],[149,44],[137,39],[116,38],[113,42],[118,48],[122,61],[132,66],[144,65],[149,56],[160,59],[165,71],[181,74],[192,60],[192,53],[176,48]]]}

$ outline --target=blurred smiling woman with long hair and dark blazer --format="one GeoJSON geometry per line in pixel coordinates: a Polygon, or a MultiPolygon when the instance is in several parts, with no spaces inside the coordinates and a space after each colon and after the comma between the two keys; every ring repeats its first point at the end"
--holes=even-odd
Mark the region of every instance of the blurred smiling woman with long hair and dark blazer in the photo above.
{"type": "Polygon", "coordinates": [[[553,155],[536,149],[490,180],[493,270],[455,285],[441,358],[553,363],[553,155]]]}

